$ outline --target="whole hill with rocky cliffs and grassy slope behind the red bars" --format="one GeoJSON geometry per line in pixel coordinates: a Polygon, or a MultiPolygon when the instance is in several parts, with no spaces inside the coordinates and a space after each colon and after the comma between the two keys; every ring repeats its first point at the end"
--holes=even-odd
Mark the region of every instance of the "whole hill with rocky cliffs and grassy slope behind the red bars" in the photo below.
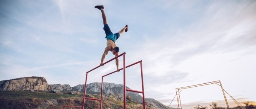
{"type": "MultiPolygon", "coordinates": [[[[103,84],[103,109],[123,108],[123,85],[103,84]]],[[[129,89],[129,87],[126,87],[129,89]]],[[[47,84],[43,77],[25,77],[0,81],[0,109],[62,109],[62,106],[82,106],[84,85],[47,84]]],[[[86,96],[99,98],[101,83],[87,84],[86,96]]],[[[155,99],[145,99],[151,109],[166,109],[155,99]]],[[[127,92],[127,109],[142,106],[142,96],[127,92]]],[[[99,101],[86,100],[86,109],[99,109],[99,101]]],[[[142,108],[139,108],[142,109],[142,108]]]]}

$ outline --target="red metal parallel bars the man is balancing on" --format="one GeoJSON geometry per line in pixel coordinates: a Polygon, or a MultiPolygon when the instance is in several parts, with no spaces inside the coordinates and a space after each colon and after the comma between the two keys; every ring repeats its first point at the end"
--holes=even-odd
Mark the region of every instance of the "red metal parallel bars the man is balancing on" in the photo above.
{"type": "MultiPolygon", "coordinates": [[[[123,74],[124,74],[124,75],[123,75],[123,81],[124,81],[124,83],[123,83],[123,86],[124,86],[124,100],[123,100],[123,101],[124,101],[124,105],[123,105],[123,109],[126,109],[126,91],[142,93],[142,96],[143,96],[143,109],[146,109],[146,107],[145,107],[145,96],[144,96],[145,94],[144,94],[143,73],[142,73],[142,61],[138,61],[138,62],[135,62],[135,63],[130,64],[130,65],[128,65],[128,66],[125,66],[125,54],[126,54],[126,53],[124,52],[124,53],[118,55],[117,57],[114,57],[114,58],[112,58],[111,60],[109,60],[109,61],[107,61],[107,62],[104,62],[103,65],[107,64],[108,62],[110,62],[110,61],[112,61],[112,60],[114,60],[114,59],[116,59],[116,58],[118,58],[118,57],[123,56],[123,68],[119,69],[120,71],[123,70],[123,74]],[[125,77],[125,73],[126,73],[126,72],[125,72],[125,69],[128,68],[128,67],[131,67],[132,65],[138,64],[138,63],[140,63],[140,65],[141,65],[142,91],[132,90],[132,89],[126,89],[126,80],[125,80],[125,78],[126,78],[126,77],[125,77]]],[[[88,73],[91,72],[91,71],[93,71],[93,70],[95,70],[95,69],[97,69],[97,68],[99,68],[99,67],[101,67],[101,65],[99,65],[99,66],[93,68],[92,70],[89,70],[89,71],[86,72],[86,78],[85,78],[85,84],[84,84],[84,95],[83,95],[83,106],[82,106],[82,107],[81,107],[81,106],[65,106],[65,107],[77,107],[77,108],[84,109],[85,99],[89,99],[89,100],[98,100],[98,101],[100,101],[100,102],[101,102],[100,109],[102,109],[103,78],[104,78],[105,76],[110,75],[110,74],[116,73],[117,70],[116,70],[116,71],[113,71],[113,72],[111,72],[111,73],[108,73],[108,74],[106,74],[106,75],[104,75],[104,76],[102,76],[102,79],[101,79],[101,98],[100,98],[100,99],[85,97],[85,96],[86,96],[86,86],[87,86],[87,77],[88,77],[88,73]]],[[[64,106],[63,106],[63,109],[64,109],[64,106]]]]}

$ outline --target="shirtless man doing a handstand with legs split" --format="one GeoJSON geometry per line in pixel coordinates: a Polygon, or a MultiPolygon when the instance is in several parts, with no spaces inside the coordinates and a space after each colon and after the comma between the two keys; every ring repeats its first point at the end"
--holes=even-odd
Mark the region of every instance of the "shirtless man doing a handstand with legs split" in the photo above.
{"type": "MultiPolygon", "coordinates": [[[[117,39],[119,38],[120,34],[123,33],[124,31],[127,32],[128,31],[128,25],[124,26],[123,29],[121,29],[118,33],[112,33],[108,23],[107,23],[107,17],[104,13],[104,6],[103,5],[97,5],[95,6],[95,8],[101,10],[102,13],[102,19],[103,19],[103,24],[104,24],[104,31],[106,33],[106,39],[107,39],[107,47],[104,50],[104,53],[101,57],[101,66],[104,65],[104,59],[106,57],[106,55],[108,54],[108,51],[111,51],[113,55],[118,56],[118,52],[119,52],[119,48],[117,47],[117,45],[115,45],[115,41],[117,41],[117,39]]],[[[117,71],[120,71],[118,68],[118,58],[115,59],[115,64],[117,65],[117,71]]]]}

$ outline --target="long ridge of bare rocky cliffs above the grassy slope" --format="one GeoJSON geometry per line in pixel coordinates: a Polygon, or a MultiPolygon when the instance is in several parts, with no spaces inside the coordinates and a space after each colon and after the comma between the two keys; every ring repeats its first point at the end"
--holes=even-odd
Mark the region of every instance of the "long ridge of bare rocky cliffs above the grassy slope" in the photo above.
{"type": "MultiPolygon", "coordinates": [[[[126,87],[129,89],[129,87],[126,87]]],[[[68,84],[48,84],[44,77],[25,77],[16,78],[13,80],[0,81],[0,91],[31,91],[31,92],[53,92],[57,94],[80,94],[83,95],[84,85],[77,85],[70,87],[68,84]]],[[[100,96],[101,83],[87,84],[86,94],[93,96],[100,96]]],[[[127,92],[128,102],[142,103],[142,96],[139,93],[127,92]]],[[[87,96],[90,96],[87,95],[87,96]]],[[[115,100],[116,102],[123,102],[123,85],[114,83],[103,83],[104,99],[115,100]]],[[[90,96],[91,97],[91,96],[90,96]]],[[[145,99],[146,103],[152,104],[152,108],[166,109],[167,106],[158,102],[155,99],[145,99]]],[[[81,102],[81,101],[80,101],[81,102]]]]}

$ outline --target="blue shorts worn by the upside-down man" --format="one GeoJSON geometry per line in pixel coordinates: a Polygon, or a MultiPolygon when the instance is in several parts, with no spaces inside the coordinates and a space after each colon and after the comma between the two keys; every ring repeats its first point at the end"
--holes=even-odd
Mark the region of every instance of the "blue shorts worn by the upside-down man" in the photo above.
{"type": "Polygon", "coordinates": [[[117,41],[117,39],[119,38],[120,34],[119,33],[112,33],[110,30],[110,27],[108,26],[108,24],[104,25],[104,31],[106,33],[106,37],[107,39],[112,40],[113,42],[117,41]]]}

